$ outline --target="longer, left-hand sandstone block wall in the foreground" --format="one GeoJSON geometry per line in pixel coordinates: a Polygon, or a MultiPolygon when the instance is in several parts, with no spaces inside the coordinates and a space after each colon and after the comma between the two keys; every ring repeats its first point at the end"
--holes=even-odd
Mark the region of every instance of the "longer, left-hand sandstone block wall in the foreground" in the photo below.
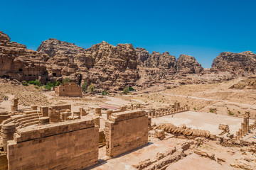
{"type": "Polygon", "coordinates": [[[97,163],[99,128],[91,119],[22,128],[7,147],[9,170],[85,169],[97,163]]]}

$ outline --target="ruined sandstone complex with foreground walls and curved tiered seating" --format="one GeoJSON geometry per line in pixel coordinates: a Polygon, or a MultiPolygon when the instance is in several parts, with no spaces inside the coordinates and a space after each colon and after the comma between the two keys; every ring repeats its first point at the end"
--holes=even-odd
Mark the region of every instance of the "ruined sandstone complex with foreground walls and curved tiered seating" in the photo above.
{"type": "MultiPolygon", "coordinates": [[[[157,112],[144,111],[132,104],[130,109],[122,106],[107,110],[105,127],[100,127],[101,107],[93,108],[93,114],[85,108],[72,111],[71,105],[18,110],[16,101],[10,113],[0,114],[0,147],[6,153],[0,162],[5,167],[8,162],[9,170],[85,169],[98,164],[99,147],[106,146],[105,154],[112,158],[147,145],[151,116],[188,111],[188,106],[178,105],[157,112]]],[[[164,139],[161,128],[156,137],[164,139]]]]}

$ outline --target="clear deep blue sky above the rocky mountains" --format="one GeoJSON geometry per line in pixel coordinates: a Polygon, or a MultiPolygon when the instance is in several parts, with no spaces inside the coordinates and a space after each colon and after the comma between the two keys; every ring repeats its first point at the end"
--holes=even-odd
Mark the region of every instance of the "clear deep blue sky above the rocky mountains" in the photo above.
{"type": "Polygon", "coordinates": [[[256,1],[1,1],[0,30],[36,50],[57,38],[90,47],[105,40],[196,57],[256,52],[256,1]]]}

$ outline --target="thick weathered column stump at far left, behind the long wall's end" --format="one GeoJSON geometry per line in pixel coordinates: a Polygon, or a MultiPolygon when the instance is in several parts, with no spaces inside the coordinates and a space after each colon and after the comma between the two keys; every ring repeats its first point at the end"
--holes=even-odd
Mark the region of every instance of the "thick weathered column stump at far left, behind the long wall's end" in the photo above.
{"type": "Polygon", "coordinates": [[[1,127],[1,137],[4,145],[4,151],[7,152],[7,141],[14,140],[14,132],[16,131],[16,125],[14,123],[8,123],[1,127]]]}

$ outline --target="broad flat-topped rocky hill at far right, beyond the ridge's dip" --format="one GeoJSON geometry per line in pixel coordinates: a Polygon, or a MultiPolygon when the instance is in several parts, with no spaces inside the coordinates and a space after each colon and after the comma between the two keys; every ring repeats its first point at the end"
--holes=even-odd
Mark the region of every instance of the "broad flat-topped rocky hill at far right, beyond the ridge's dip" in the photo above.
{"type": "Polygon", "coordinates": [[[212,72],[233,72],[234,74],[255,74],[256,55],[250,51],[221,52],[213,60],[212,72]]]}

